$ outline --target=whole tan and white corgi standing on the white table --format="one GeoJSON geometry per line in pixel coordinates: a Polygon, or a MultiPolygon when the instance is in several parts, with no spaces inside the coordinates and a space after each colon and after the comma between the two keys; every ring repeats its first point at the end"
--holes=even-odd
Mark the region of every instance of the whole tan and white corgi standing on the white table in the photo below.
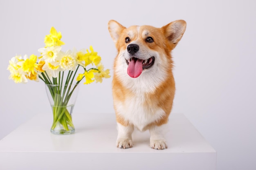
{"type": "Polygon", "coordinates": [[[118,148],[132,147],[134,128],[149,130],[151,148],[167,148],[164,132],[175,94],[171,51],[185,30],[184,20],[161,28],[108,22],[118,53],[112,80],[118,148]]]}

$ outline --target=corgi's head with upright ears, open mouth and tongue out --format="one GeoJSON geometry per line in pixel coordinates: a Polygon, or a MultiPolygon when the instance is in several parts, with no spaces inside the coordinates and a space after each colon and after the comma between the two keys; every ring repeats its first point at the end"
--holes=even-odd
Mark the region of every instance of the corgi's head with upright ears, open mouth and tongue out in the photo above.
{"type": "Polygon", "coordinates": [[[162,28],[126,28],[117,21],[110,20],[108,30],[118,50],[118,57],[121,57],[121,64],[126,64],[130,77],[137,78],[150,69],[156,71],[162,67],[164,71],[168,71],[167,67],[172,66],[170,53],[182,38],[186,22],[177,20],[162,28]]]}

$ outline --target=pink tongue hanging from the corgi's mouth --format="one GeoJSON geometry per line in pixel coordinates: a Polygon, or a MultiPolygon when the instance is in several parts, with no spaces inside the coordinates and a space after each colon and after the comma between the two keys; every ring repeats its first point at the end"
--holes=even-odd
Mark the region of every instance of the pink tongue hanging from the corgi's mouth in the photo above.
{"type": "Polygon", "coordinates": [[[143,60],[132,59],[132,61],[128,64],[128,68],[127,68],[127,73],[130,77],[132,78],[139,77],[139,75],[142,73],[142,70],[143,70],[142,62],[143,60]]]}

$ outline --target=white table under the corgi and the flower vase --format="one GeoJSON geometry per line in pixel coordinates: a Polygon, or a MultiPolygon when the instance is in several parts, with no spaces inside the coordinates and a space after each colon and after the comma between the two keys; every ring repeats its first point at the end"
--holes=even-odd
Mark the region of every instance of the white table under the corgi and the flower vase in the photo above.
{"type": "Polygon", "coordinates": [[[133,148],[115,146],[115,114],[74,114],[76,132],[53,135],[52,115],[36,115],[0,141],[0,170],[216,170],[216,151],[183,114],[171,114],[168,149],[149,147],[135,131],[133,148]]]}

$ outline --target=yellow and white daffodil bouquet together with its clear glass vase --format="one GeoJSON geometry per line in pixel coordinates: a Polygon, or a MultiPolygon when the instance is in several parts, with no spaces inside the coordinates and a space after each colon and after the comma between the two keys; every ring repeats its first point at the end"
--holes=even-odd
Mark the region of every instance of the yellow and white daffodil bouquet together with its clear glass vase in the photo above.
{"type": "Polygon", "coordinates": [[[15,83],[27,83],[29,80],[45,82],[47,96],[53,111],[51,132],[54,134],[72,134],[72,110],[78,85],[84,78],[84,84],[102,82],[110,77],[109,69],[104,70],[101,57],[90,46],[90,51],[76,49],[61,51],[61,32],[54,27],[45,36],[45,47],[38,49],[40,57],[32,54],[16,55],[9,61],[8,70],[15,83]],[[90,65],[90,68],[87,68],[90,65]],[[79,68],[83,68],[79,73],[79,68]]]}

